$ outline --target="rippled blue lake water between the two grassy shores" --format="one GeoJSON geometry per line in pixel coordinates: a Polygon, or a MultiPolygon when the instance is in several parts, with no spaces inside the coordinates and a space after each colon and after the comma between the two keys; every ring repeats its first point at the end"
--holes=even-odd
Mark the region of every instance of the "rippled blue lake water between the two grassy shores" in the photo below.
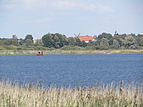
{"type": "Polygon", "coordinates": [[[143,83],[143,55],[0,55],[0,80],[44,81],[59,87],[121,80],[143,83]]]}

